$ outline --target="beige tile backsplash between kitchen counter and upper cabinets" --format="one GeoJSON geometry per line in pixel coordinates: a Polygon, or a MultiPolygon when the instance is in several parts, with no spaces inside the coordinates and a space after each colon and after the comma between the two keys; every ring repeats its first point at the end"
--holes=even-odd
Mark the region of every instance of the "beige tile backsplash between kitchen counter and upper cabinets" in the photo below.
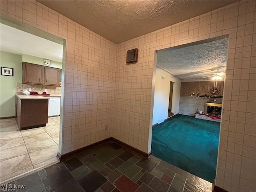
{"type": "Polygon", "coordinates": [[[61,86],[51,86],[51,85],[36,85],[36,84],[24,84],[24,83],[16,83],[16,92],[21,92],[20,90],[28,90],[31,88],[31,91],[42,91],[45,92],[47,89],[48,94],[59,93],[61,92],[61,86]]]}

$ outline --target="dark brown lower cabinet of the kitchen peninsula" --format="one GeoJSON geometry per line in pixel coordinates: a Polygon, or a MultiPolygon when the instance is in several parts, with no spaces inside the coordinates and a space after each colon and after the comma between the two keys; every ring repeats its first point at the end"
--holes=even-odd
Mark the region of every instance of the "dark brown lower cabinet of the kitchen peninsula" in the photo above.
{"type": "Polygon", "coordinates": [[[46,126],[48,99],[20,99],[16,96],[16,121],[20,130],[46,126]]]}

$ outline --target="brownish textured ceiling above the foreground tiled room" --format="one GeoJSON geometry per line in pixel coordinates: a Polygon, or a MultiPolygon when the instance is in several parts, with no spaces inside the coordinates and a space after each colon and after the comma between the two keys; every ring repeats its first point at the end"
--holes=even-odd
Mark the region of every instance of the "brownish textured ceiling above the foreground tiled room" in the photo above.
{"type": "Polygon", "coordinates": [[[236,1],[38,0],[116,44],[236,1]]]}

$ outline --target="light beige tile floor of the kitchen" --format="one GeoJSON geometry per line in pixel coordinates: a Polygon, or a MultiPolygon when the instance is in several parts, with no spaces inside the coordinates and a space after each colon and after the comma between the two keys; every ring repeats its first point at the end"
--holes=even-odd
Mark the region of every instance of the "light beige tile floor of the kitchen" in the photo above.
{"type": "Polygon", "coordinates": [[[1,182],[41,166],[59,162],[60,116],[49,117],[45,127],[20,131],[15,118],[0,121],[1,182]]]}

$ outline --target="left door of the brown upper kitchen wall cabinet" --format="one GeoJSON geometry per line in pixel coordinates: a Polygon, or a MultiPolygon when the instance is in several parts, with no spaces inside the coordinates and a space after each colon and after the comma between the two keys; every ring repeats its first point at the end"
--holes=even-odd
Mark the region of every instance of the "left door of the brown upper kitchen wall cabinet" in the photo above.
{"type": "Polygon", "coordinates": [[[44,66],[23,62],[22,83],[43,84],[44,66]]]}

